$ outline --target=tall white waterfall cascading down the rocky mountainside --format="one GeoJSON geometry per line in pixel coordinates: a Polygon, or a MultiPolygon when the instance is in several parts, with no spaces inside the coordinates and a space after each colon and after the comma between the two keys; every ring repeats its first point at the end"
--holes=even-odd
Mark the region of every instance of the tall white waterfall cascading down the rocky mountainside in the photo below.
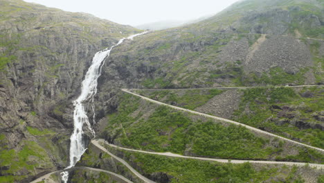
{"type": "MultiPolygon", "coordinates": [[[[73,113],[73,124],[74,130],[71,134],[70,140],[70,164],[67,168],[71,168],[75,166],[75,164],[80,160],[81,156],[83,155],[84,151],[87,150],[86,144],[84,144],[84,132],[82,130],[83,124],[87,124],[87,128],[93,134],[93,137],[96,135],[94,130],[91,128],[91,124],[89,123],[89,119],[87,116],[87,112],[84,110],[84,102],[89,101],[89,99],[96,95],[97,93],[97,85],[98,85],[98,78],[101,75],[101,68],[102,65],[105,64],[106,58],[109,57],[111,49],[119,44],[123,43],[124,40],[133,40],[134,37],[138,35],[143,35],[144,33],[139,33],[136,35],[131,35],[127,38],[123,38],[119,40],[117,44],[111,46],[110,49],[105,49],[103,51],[99,51],[94,55],[91,67],[89,67],[87,74],[82,81],[82,88],[80,96],[73,101],[74,105],[74,113],[73,113]]],[[[93,115],[94,115],[94,107],[93,107],[93,115]]],[[[93,116],[94,120],[94,116],[93,116]]],[[[69,179],[69,173],[64,171],[61,173],[62,180],[66,183],[69,179]]]]}

